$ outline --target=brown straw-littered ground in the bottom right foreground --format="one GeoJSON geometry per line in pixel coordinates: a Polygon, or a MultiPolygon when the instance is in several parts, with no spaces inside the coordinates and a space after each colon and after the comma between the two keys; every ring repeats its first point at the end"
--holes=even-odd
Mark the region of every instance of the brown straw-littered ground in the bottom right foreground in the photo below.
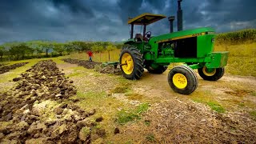
{"type": "Polygon", "coordinates": [[[256,122],[248,116],[217,114],[204,106],[178,99],[155,104],[145,121],[150,122],[147,131],[154,131],[158,143],[256,142],[256,122]]]}

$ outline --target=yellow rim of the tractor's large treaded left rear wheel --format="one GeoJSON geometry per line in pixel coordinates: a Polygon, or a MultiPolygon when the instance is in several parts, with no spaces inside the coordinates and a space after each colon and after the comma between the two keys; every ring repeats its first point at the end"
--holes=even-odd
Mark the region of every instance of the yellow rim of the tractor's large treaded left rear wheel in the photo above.
{"type": "Polygon", "coordinates": [[[134,60],[129,53],[122,54],[122,70],[125,74],[131,74],[134,70],[134,60]]]}

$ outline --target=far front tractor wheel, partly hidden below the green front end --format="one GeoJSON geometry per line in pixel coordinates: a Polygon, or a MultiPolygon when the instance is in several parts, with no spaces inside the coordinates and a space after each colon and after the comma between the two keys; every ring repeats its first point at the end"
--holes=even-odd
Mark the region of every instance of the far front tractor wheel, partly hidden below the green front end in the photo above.
{"type": "Polygon", "coordinates": [[[207,72],[206,66],[198,69],[198,74],[202,77],[202,79],[207,81],[217,81],[219,78],[222,78],[224,73],[224,67],[216,68],[213,72],[207,72]]]}

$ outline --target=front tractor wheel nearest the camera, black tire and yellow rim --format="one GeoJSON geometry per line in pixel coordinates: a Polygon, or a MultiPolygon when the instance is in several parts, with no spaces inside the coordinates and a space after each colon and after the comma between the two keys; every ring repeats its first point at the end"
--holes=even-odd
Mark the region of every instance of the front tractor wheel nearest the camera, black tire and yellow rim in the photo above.
{"type": "Polygon", "coordinates": [[[191,94],[198,87],[198,77],[188,66],[175,66],[168,74],[168,82],[179,94],[191,94]]]}

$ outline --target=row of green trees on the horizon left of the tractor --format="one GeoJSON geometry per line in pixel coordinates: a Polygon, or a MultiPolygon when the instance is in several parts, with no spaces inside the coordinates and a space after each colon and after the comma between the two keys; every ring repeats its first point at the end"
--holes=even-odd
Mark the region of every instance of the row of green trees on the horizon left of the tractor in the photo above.
{"type": "Polygon", "coordinates": [[[22,60],[30,58],[50,58],[71,54],[73,52],[86,52],[92,50],[94,53],[102,51],[121,49],[122,44],[114,42],[6,42],[0,45],[0,61],[22,60]]]}

